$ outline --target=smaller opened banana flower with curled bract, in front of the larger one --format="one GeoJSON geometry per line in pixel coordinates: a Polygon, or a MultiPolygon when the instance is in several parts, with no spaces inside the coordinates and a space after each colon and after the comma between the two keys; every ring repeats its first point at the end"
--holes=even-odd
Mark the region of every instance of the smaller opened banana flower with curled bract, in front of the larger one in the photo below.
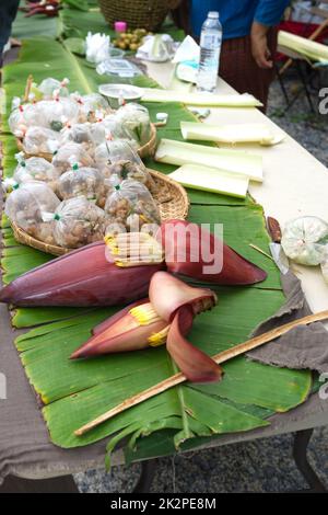
{"type": "Polygon", "coordinates": [[[71,358],[139,351],[166,342],[168,353],[187,379],[219,380],[222,375],[219,365],[185,337],[194,318],[215,306],[215,294],[157,272],[151,279],[149,295],[149,299],[134,302],[96,327],[92,337],[71,358]]]}

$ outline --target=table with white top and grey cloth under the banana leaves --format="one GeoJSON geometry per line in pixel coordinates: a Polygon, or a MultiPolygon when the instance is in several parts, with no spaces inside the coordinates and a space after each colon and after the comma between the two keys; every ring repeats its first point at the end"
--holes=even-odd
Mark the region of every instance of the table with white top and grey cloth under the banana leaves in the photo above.
{"type": "MultiPolygon", "coordinates": [[[[162,85],[167,87],[172,72],[169,64],[148,65],[149,75],[162,85]]],[[[221,93],[234,91],[222,80],[218,82],[221,93]]],[[[213,108],[209,123],[263,123],[276,127],[265,115],[253,108],[231,110],[213,108]]],[[[276,127],[277,128],[277,127],[276,127]]],[[[267,215],[274,216],[283,225],[286,220],[300,215],[316,215],[327,217],[326,192],[328,191],[328,173],[326,168],[302,148],[291,137],[286,136],[283,144],[271,148],[256,146],[245,147],[265,157],[265,182],[262,185],[251,184],[250,193],[266,210],[267,215]]],[[[296,275],[301,278],[304,291],[313,311],[327,309],[328,288],[317,270],[295,267],[296,275]]],[[[15,442],[21,442],[19,448],[4,445],[0,431],[0,480],[5,476],[15,476],[32,480],[45,480],[47,478],[66,477],[68,474],[84,471],[90,468],[103,468],[105,444],[99,442],[82,449],[63,450],[55,447],[48,438],[45,423],[36,407],[35,394],[28,386],[27,378],[21,366],[19,356],[12,344],[13,333],[10,329],[9,314],[5,306],[0,305],[1,344],[0,344],[0,371],[5,374],[5,363],[13,364],[8,376],[8,400],[0,400],[1,423],[11,423],[16,427],[15,442]],[[28,420],[20,419],[19,403],[31,407],[28,420]],[[31,445],[34,451],[31,453],[31,445]],[[9,459],[9,457],[12,459],[9,459]]],[[[209,444],[208,447],[227,445],[277,434],[298,432],[295,445],[295,459],[301,466],[306,479],[317,490],[324,487],[317,482],[314,472],[306,461],[306,446],[311,437],[311,430],[328,424],[328,402],[313,396],[305,404],[283,415],[274,415],[271,425],[266,428],[255,430],[243,434],[232,434],[209,444]],[[309,431],[307,431],[309,430],[309,431]],[[300,446],[300,444],[302,444],[300,446]]],[[[121,451],[113,456],[113,465],[124,462],[121,451]]],[[[149,488],[149,473],[152,464],[144,468],[139,491],[149,488]]],[[[33,483],[35,484],[35,483],[33,483]]],[[[43,481],[37,491],[75,491],[70,478],[62,481],[43,481]]],[[[4,490],[19,489],[31,490],[31,483],[15,483],[12,479],[3,488],[4,490]]],[[[2,490],[3,491],[3,490],[2,490]]],[[[1,489],[0,489],[1,492],[1,489]]]]}

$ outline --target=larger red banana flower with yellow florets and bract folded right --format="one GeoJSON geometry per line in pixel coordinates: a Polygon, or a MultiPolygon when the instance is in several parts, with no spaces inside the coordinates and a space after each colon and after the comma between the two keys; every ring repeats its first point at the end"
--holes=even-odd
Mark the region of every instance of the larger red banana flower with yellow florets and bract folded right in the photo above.
{"type": "Polygon", "coordinates": [[[118,234],[109,240],[107,244],[114,262],[108,260],[106,244],[97,242],[34,268],[0,289],[0,302],[26,307],[126,305],[144,297],[152,275],[165,268],[223,285],[248,285],[267,276],[265,271],[196,224],[181,220],[165,222],[156,240],[140,233],[141,250],[150,251],[142,261],[139,260],[136,234],[138,237],[139,233],[118,234]],[[177,229],[173,237],[169,228],[177,229]],[[185,240],[179,228],[187,229],[187,234],[190,230],[191,236],[185,240]],[[206,262],[202,254],[198,255],[202,247],[208,248],[210,255],[213,253],[213,262],[221,259],[222,270],[207,271],[212,263],[206,262]]]}

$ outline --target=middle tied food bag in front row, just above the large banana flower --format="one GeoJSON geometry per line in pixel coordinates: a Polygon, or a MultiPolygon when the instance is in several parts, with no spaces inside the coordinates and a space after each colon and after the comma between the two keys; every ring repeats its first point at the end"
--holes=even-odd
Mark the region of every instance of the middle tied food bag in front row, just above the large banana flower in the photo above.
{"type": "Polygon", "coordinates": [[[44,213],[54,224],[54,238],[59,247],[77,249],[101,241],[105,233],[105,213],[85,197],[63,201],[55,214],[44,213]]]}

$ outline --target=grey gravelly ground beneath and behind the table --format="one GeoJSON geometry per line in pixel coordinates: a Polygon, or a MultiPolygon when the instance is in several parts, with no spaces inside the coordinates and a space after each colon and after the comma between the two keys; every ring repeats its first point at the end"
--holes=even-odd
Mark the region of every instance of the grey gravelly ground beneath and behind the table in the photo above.
{"type": "MultiPolygon", "coordinates": [[[[328,84],[326,77],[324,83],[328,84]]],[[[293,75],[286,80],[290,93],[297,90],[293,75]]],[[[314,94],[317,103],[317,94],[314,94]]],[[[271,88],[269,116],[308,151],[328,165],[328,115],[313,115],[304,95],[281,116],[284,99],[278,82],[271,88]]],[[[328,488],[328,427],[316,430],[309,459],[328,488]]],[[[75,477],[83,492],[130,492],[140,467],[117,467],[110,473],[89,471],[75,477]]],[[[305,488],[292,459],[292,436],[260,439],[224,448],[160,459],[153,492],[283,492],[305,488]]]]}

